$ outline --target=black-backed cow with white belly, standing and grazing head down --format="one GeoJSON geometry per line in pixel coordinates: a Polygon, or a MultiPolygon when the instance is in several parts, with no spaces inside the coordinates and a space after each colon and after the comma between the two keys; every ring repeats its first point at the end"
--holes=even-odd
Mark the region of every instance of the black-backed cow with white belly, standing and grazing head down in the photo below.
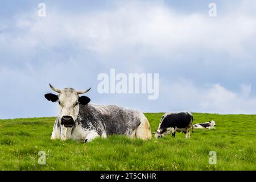
{"type": "Polygon", "coordinates": [[[172,137],[175,137],[176,131],[183,131],[186,134],[186,138],[190,138],[189,131],[192,127],[192,122],[193,115],[189,112],[166,113],[162,116],[158,130],[154,133],[155,138],[165,137],[168,134],[172,134],[172,137]]]}

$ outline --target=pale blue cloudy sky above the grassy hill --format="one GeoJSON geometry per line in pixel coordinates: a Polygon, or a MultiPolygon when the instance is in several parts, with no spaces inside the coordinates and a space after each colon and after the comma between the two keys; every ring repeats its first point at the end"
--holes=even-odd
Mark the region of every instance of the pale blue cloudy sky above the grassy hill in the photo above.
{"type": "Polygon", "coordinates": [[[254,0],[1,1],[0,119],[57,115],[49,83],[144,112],[256,114],[255,9],[254,0]],[[99,93],[110,69],[159,73],[158,99],[99,93]]]}

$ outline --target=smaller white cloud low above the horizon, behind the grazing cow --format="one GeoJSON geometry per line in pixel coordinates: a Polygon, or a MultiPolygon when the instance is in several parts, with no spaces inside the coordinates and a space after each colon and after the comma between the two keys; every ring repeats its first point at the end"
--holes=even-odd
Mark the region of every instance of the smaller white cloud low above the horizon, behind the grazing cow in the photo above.
{"type": "Polygon", "coordinates": [[[164,81],[162,85],[160,97],[170,104],[170,110],[184,108],[205,113],[255,113],[256,97],[250,94],[250,84],[242,84],[240,92],[233,92],[220,84],[195,85],[188,80],[164,81]]]}

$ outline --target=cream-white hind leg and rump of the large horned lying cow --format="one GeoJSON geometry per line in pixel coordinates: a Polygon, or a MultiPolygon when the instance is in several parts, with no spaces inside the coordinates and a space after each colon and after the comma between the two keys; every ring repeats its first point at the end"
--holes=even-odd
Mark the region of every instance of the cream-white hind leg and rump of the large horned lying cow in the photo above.
{"type": "Polygon", "coordinates": [[[141,124],[139,124],[139,126],[135,130],[135,137],[141,138],[144,140],[150,140],[152,137],[150,123],[147,121],[147,118],[143,113],[141,114],[140,120],[141,120],[141,124]]]}

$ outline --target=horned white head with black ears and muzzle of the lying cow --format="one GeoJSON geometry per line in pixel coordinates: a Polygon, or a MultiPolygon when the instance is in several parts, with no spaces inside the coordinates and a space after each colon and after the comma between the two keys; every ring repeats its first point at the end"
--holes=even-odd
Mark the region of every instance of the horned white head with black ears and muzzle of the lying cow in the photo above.
{"type": "Polygon", "coordinates": [[[90,90],[85,91],[76,91],[72,88],[65,88],[63,90],[55,89],[51,84],[49,84],[51,89],[57,93],[52,94],[48,93],[45,94],[44,97],[48,101],[58,102],[59,103],[59,119],[61,125],[65,127],[72,127],[75,125],[75,121],[79,114],[79,104],[86,105],[90,102],[90,98],[86,96],[80,96],[79,94],[86,93],[90,90]]]}

